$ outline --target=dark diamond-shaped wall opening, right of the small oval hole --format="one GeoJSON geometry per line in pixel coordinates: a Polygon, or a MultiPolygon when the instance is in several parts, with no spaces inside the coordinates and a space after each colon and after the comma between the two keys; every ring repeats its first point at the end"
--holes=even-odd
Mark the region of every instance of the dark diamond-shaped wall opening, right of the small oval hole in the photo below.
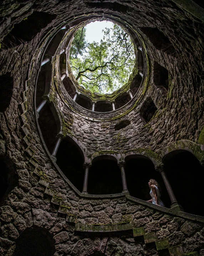
{"type": "Polygon", "coordinates": [[[156,111],[157,107],[153,100],[151,98],[147,98],[142,104],[139,113],[147,124],[152,119],[156,111]]]}

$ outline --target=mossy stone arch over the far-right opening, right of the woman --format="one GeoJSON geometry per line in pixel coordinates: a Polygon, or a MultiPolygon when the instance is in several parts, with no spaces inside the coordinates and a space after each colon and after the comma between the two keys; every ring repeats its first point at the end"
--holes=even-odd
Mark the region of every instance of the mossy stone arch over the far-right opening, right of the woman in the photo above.
{"type": "Polygon", "coordinates": [[[165,155],[174,151],[174,150],[187,150],[192,153],[200,162],[204,158],[204,151],[201,149],[201,146],[191,140],[179,140],[164,148],[160,156],[164,159],[165,155]]]}

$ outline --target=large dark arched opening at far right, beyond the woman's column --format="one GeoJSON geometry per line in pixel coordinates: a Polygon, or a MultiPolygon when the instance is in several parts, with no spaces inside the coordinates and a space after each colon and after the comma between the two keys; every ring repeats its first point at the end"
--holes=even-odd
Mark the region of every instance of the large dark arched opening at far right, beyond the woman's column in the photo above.
{"type": "Polygon", "coordinates": [[[204,168],[187,150],[174,150],[163,158],[165,173],[177,201],[185,212],[204,216],[203,201],[204,168]]]}

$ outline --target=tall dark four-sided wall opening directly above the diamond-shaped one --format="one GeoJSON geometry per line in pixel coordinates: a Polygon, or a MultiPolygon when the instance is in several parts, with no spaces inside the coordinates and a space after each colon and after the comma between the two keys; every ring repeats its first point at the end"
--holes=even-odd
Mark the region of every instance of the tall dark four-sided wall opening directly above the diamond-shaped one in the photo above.
{"type": "Polygon", "coordinates": [[[169,88],[169,72],[166,68],[162,67],[159,63],[154,61],[154,84],[161,91],[167,92],[169,88]]]}

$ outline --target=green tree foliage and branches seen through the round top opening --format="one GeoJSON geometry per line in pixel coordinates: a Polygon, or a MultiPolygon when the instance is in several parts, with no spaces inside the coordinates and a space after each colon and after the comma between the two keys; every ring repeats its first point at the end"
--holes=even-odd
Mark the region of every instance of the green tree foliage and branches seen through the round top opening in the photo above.
{"type": "Polygon", "coordinates": [[[77,43],[73,46],[72,43],[70,62],[80,85],[92,92],[107,93],[128,81],[135,65],[135,53],[131,38],[120,26],[114,24],[113,28],[102,31],[104,36],[100,43],[87,43],[85,37],[81,38],[83,42],[76,39],[78,45],[86,45],[86,48],[76,47],[77,43]],[[77,51],[80,54],[76,57],[77,51]]]}

